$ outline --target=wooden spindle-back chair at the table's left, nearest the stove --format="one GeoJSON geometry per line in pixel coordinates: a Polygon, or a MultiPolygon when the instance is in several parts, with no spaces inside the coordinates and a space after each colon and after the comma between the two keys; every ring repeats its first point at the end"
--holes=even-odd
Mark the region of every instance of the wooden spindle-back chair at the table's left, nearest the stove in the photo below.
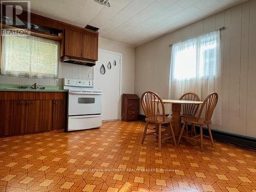
{"type": "Polygon", "coordinates": [[[165,117],[164,104],[162,99],[157,93],[147,91],[141,96],[141,106],[146,116],[146,125],[143,133],[142,144],[147,135],[154,135],[158,138],[158,150],[161,151],[161,142],[166,139],[173,138],[173,142],[176,145],[175,135],[172,126],[172,118],[165,117]],[[159,114],[162,114],[159,116],[159,114]],[[153,132],[147,133],[148,124],[155,124],[156,129],[153,132]],[[162,127],[161,125],[168,123],[168,127],[162,127]],[[162,131],[162,128],[165,129],[162,131]]]}

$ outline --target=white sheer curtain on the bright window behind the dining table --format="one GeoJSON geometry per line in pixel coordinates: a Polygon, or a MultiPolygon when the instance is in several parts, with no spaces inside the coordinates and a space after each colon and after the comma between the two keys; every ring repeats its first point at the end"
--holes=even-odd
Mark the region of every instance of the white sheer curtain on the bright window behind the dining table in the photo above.
{"type": "Polygon", "coordinates": [[[193,92],[204,100],[209,93],[217,92],[219,100],[212,122],[221,125],[220,30],[174,44],[171,65],[170,98],[193,92]]]}

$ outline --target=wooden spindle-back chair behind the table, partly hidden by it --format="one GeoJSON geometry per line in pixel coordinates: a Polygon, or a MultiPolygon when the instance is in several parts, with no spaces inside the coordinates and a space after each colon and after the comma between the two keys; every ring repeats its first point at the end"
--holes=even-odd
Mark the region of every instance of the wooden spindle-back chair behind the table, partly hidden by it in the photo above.
{"type": "MultiPolygon", "coordinates": [[[[200,101],[200,98],[195,93],[185,93],[180,97],[180,100],[200,101]]],[[[184,117],[196,117],[198,108],[199,108],[199,104],[189,104],[189,103],[182,104],[182,114],[180,115],[180,118],[182,119],[184,117]]],[[[196,133],[195,126],[191,126],[190,136],[192,136],[193,131],[194,133],[196,133]]],[[[186,132],[188,133],[187,126],[186,126],[186,132]]]]}

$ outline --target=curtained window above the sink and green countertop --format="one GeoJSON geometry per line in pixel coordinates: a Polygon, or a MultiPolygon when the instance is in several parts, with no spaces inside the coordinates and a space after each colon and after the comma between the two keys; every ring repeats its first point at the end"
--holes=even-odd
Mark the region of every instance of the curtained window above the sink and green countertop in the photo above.
{"type": "Polygon", "coordinates": [[[1,73],[19,77],[56,78],[59,42],[36,36],[3,36],[1,73]]]}

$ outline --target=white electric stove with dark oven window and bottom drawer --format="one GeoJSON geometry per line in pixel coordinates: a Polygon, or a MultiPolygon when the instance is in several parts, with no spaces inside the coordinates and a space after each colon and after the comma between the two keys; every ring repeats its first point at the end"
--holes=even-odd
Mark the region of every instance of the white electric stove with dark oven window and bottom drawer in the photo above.
{"type": "Polygon", "coordinates": [[[93,89],[92,80],[64,78],[69,90],[68,131],[101,127],[102,91],[93,89]]]}

